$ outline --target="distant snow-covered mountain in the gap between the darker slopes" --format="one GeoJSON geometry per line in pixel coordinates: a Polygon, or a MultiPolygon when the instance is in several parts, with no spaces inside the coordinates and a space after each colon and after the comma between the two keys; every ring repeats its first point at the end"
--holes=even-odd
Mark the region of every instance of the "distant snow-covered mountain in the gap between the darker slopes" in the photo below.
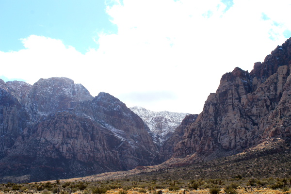
{"type": "Polygon", "coordinates": [[[143,119],[152,132],[154,140],[160,146],[174,133],[181,121],[189,114],[169,111],[154,112],[137,106],[131,107],[130,110],[143,119]]]}

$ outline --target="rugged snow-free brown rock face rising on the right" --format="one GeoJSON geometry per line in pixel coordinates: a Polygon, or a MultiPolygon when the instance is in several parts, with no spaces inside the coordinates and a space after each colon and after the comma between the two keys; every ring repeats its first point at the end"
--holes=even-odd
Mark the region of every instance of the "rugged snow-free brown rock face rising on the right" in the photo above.
{"type": "Polygon", "coordinates": [[[249,73],[236,67],[222,76],[202,113],[187,125],[175,157],[234,153],[270,138],[291,137],[291,39],[249,73]]]}

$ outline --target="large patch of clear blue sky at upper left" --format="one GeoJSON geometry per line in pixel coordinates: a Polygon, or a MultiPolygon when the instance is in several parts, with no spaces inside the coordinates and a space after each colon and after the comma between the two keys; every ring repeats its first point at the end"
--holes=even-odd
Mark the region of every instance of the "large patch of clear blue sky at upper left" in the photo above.
{"type": "Polygon", "coordinates": [[[24,49],[32,34],[62,40],[81,53],[97,49],[97,32],[116,33],[102,0],[1,0],[0,50],[24,49]]]}

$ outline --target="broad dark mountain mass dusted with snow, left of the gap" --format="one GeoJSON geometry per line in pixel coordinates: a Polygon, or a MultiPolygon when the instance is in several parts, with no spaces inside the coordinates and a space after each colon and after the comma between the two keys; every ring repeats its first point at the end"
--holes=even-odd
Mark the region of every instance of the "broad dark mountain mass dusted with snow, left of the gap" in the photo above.
{"type": "Polygon", "coordinates": [[[119,99],[67,78],[0,81],[0,177],[39,181],[149,165],[157,146],[119,99]]]}

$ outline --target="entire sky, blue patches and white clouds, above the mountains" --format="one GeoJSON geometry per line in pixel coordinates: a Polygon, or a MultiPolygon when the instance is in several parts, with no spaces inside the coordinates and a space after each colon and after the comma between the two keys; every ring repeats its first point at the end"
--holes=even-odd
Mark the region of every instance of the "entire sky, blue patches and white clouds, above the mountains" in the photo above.
{"type": "Polygon", "coordinates": [[[67,77],[127,107],[200,113],[291,37],[290,0],[0,0],[0,79],[67,77]]]}

